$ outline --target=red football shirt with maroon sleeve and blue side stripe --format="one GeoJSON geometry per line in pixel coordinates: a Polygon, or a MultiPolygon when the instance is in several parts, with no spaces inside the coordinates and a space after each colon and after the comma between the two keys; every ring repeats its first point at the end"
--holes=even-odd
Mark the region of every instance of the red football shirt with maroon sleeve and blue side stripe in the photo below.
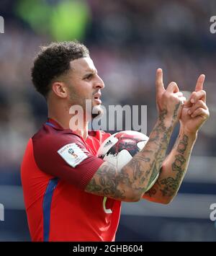
{"type": "Polygon", "coordinates": [[[84,191],[109,136],[90,131],[84,141],[49,119],[30,138],[21,177],[32,241],[114,241],[121,202],[84,191]]]}

